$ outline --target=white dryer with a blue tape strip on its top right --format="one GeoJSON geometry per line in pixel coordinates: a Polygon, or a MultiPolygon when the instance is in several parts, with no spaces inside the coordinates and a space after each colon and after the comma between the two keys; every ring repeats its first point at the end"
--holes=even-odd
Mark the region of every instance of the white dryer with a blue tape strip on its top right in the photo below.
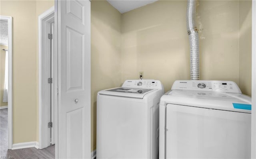
{"type": "Polygon", "coordinates": [[[251,98],[232,81],[176,80],[159,128],[160,159],[249,159],[251,98]]]}

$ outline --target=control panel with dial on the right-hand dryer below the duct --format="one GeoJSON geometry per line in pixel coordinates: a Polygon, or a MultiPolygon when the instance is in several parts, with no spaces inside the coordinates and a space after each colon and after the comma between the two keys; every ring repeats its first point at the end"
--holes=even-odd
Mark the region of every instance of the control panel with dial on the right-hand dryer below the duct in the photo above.
{"type": "Polygon", "coordinates": [[[242,93],[235,82],[228,80],[176,80],[172,85],[172,90],[242,93]]]}

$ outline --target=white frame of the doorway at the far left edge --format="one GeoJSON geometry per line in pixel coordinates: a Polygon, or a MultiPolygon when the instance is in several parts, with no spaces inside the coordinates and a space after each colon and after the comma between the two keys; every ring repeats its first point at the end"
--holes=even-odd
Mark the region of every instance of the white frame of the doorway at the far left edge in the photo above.
{"type": "Polygon", "coordinates": [[[8,22],[8,149],[12,149],[12,17],[0,16],[8,22]]]}

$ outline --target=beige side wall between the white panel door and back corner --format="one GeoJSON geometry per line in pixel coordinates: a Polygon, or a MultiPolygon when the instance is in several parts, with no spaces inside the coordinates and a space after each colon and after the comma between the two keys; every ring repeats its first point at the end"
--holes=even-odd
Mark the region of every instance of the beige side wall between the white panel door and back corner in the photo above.
{"type": "Polygon", "coordinates": [[[91,133],[96,149],[97,92],[121,85],[121,14],[106,0],[91,1],[91,133]]]}

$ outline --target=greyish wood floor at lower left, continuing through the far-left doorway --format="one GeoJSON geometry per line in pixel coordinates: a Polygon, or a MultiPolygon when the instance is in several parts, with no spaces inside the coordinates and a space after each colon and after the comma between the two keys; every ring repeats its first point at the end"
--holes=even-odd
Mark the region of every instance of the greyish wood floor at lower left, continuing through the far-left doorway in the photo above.
{"type": "Polygon", "coordinates": [[[55,146],[8,150],[8,109],[0,109],[0,159],[54,159],[55,146]]]}

